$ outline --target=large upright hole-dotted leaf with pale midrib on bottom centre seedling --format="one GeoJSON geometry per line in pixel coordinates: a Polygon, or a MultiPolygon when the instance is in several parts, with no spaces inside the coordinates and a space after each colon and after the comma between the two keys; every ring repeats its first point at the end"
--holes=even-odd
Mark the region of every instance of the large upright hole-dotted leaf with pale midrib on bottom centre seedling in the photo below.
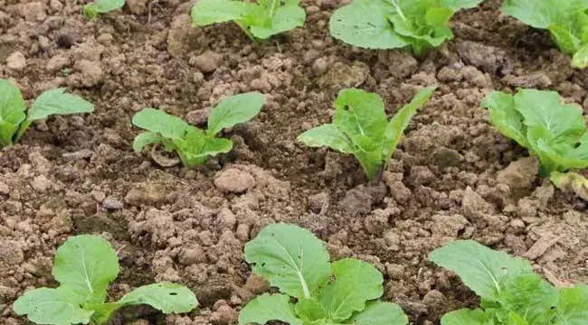
{"type": "Polygon", "coordinates": [[[331,274],[327,248],[310,231],[272,224],[245,245],[245,259],[255,274],[299,299],[327,282],[331,274]]]}

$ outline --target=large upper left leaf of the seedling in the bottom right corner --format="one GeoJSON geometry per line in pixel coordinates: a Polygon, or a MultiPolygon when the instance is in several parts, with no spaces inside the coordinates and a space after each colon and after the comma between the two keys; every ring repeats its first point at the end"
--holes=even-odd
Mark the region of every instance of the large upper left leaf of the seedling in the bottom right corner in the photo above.
{"type": "Polygon", "coordinates": [[[528,261],[473,240],[450,242],[435,249],[429,259],[458,274],[461,282],[488,301],[498,300],[508,278],[533,272],[528,261]]]}

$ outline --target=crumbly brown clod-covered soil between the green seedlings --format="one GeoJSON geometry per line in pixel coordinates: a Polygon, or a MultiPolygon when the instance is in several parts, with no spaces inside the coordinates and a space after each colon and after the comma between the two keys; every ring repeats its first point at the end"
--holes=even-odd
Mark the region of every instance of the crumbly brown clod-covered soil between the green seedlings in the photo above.
{"type": "Polygon", "coordinates": [[[557,285],[588,282],[585,202],[536,178],[536,161],[478,107],[491,89],[517,87],[556,89],[581,104],[588,75],[572,70],[548,35],[499,14],[498,1],[460,13],[456,39],[421,60],[334,41],[327,22],[335,0],[304,1],[304,28],[259,44],[231,23],[192,28],[190,1],[128,0],[96,21],[72,3],[0,0],[0,78],[27,99],[67,87],[96,104],[95,114],[50,118],[0,151],[3,324],[25,324],[12,302],[53,285],[56,247],[81,233],[103,234],[120,250],[113,299],[168,280],[202,302],[190,315],[135,324],[234,323],[242,305],[268,289],[251,276],[243,245],[276,221],[311,229],[334,258],[375,264],[385,299],[414,324],[438,323],[443,312],[476,302],[427,262],[455,238],[526,256],[557,285]],[[22,70],[5,64],[16,51],[22,70]],[[367,183],[352,157],[295,141],[330,120],[341,88],[377,92],[392,114],[429,85],[440,88],[383,181],[367,183]],[[130,147],[138,134],[130,119],[142,107],[197,124],[220,99],[254,90],[266,94],[261,114],[227,133],[235,150],[204,167],[163,168],[130,147]],[[227,192],[235,185],[246,190],[227,192]]]}

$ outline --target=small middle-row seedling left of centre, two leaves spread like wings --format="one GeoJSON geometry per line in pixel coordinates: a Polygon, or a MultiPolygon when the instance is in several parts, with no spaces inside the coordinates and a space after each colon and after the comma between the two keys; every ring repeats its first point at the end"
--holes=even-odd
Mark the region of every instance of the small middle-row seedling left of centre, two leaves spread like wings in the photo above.
{"type": "Polygon", "coordinates": [[[224,99],[208,116],[206,132],[162,110],[145,108],[133,116],[133,125],[148,131],[135,138],[133,149],[140,153],[147,144],[160,143],[166,151],[175,151],[186,167],[203,164],[209,156],[231,151],[231,140],[216,135],[224,128],[245,123],[256,116],[264,100],[259,93],[224,99]]]}

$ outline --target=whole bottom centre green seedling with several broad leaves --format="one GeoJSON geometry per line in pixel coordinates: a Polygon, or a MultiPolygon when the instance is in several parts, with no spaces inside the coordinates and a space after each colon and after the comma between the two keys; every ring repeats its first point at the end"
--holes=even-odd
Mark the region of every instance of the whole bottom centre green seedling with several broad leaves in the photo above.
{"type": "Polygon", "coordinates": [[[402,309],[378,300],[384,277],[369,263],[346,258],[330,263],[327,248],[310,231],[272,224],[245,245],[253,273],[278,287],[249,302],[239,324],[280,320],[290,325],[406,325],[402,309]],[[295,301],[295,302],[292,302],[295,301]]]}

